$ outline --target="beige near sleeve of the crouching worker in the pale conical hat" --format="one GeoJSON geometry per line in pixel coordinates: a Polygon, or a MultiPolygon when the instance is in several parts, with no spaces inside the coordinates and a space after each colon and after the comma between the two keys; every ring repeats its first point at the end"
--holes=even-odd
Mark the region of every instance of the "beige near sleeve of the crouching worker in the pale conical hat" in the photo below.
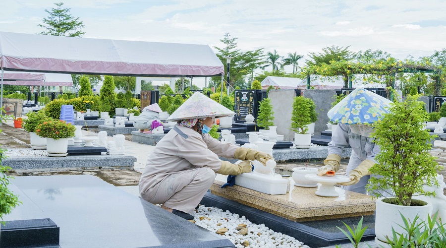
{"type": "Polygon", "coordinates": [[[178,146],[176,156],[189,161],[196,167],[209,167],[215,172],[222,167],[219,156],[208,149],[206,143],[200,137],[189,136],[178,146]]]}

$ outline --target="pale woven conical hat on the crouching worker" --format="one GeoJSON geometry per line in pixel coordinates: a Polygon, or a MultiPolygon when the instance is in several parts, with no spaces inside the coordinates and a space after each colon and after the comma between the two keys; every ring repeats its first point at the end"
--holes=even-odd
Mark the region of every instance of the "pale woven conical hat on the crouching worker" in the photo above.
{"type": "Polygon", "coordinates": [[[167,121],[178,121],[184,119],[223,117],[233,116],[235,113],[224,107],[220,103],[195,92],[187,101],[185,101],[175,112],[173,112],[167,121]]]}

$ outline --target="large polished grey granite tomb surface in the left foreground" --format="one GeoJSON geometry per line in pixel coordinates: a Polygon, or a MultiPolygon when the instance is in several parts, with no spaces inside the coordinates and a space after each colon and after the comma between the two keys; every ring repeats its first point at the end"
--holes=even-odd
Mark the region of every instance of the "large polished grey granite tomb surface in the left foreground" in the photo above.
{"type": "Polygon", "coordinates": [[[8,220],[50,218],[61,247],[234,247],[228,240],[91,175],[16,177],[8,220]]]}

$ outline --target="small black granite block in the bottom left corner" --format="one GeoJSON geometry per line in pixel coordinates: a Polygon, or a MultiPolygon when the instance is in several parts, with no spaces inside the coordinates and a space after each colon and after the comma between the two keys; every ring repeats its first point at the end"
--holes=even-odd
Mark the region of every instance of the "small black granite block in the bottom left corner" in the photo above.
{"type": "Polygon", "coordinates": [[[13,220],[1,224],[0,247],[59,247],[59,227],[51,219],[13,220]]]}

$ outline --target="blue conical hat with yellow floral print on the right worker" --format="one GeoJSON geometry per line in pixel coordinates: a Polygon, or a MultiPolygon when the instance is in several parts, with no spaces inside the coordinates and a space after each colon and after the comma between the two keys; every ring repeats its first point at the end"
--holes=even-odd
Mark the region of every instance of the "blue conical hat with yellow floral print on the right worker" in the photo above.
{"type": "Polygon", "coordinates": [[[371,124],[378,122],[389,113],[390,100],[363,88],[356,88],[338,104],[327,116],[330,121],[342,124],[371,124]]]}

